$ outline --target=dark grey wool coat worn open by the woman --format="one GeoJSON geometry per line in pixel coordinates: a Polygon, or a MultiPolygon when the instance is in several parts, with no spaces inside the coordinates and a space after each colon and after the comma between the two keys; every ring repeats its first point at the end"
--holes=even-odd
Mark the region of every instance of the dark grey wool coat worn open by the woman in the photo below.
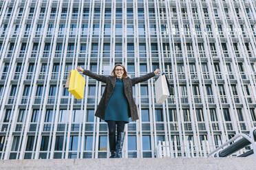
{"type": "MultiPolygon", "coordinates": [[[[98,104],[98,107],[95,113],[96,117],[99,117],[100,119],[105,120],[105,109],[107,108],[107,103],[112,93],[114,92],[116,77],[114,76],[107,77],[105,75],[98,75],[88,70],[83,70],[83,74],[88,75],[89,77],[92,77],[93,79],[98,80],[100,82],[104,82],[106,84],[103,96],[100,99],[100,103],[98,104]]],[[[127,101],[129,104],[128,113],[132,121],[136,121],[138,119],[138,110],[134,102],[134,97],[132,95],[132,86],[140,82],[145,82],[153,76],[155,76],[155,73],[151,72],[151,73],[148,73],[147,75],[142,75],[141,77],[134,77],[134,78],[126,77],[122,79],[122,82],[124,84],[125,97],[127,97],[127,101]]]]}

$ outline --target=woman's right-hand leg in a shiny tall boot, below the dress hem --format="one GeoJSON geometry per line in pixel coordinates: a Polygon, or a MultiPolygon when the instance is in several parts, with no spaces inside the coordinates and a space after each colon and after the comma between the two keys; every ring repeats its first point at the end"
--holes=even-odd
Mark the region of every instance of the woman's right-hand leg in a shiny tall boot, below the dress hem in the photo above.
{"type": "Polygon", "coordinates": [[[125,122],[117,121],[116,158],[122,158],[122,145],[125,138],[125,122]]]}

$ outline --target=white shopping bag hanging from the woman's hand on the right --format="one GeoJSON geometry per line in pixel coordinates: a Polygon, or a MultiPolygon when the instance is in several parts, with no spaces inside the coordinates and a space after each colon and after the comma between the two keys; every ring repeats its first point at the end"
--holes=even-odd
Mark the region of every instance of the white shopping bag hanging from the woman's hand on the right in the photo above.
{"type": "Polygon", "coordinates": [[[160,75],[155,82],[155,92],[156,92],[156,103],[163,103],[170,95],[169,93],[169,83],[165,75],[160,75]]]}

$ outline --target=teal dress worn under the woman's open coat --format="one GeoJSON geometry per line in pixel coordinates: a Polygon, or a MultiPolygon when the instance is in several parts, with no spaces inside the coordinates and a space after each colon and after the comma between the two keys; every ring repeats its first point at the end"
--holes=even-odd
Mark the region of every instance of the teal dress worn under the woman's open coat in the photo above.
{"type": "Polygon", "coordinates": [[[121,78],[116,78],[114,93],[112,93],[105,110],[105,121],[125,121],[129,123],[129,104],[124,93],[124,84],[121,78]]]}

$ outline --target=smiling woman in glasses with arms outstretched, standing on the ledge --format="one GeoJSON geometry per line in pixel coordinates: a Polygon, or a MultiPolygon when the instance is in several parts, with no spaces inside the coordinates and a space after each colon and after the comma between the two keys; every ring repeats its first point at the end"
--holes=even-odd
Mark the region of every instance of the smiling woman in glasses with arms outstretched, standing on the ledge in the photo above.
{"type": "Polygon", "coordinates": [[[78,66],[77,69],[83,72],[84,75],[106,83],[95,116],[105,120],[109,127],[109,149],[111,153],[109,158],[121,158],[122,144],[125,137],[125,123],[129,123],[129,117],[131,117],[132,121],[138,119],[138,110],[134,102],[132,86],[149,80],[159,72],[159,69],[147,75],[134,78],[127,76],[125,66],[122,64],[116,64],[111,72],[111,76],[108,77],[84,70],[81,66],[78,66]]]}

